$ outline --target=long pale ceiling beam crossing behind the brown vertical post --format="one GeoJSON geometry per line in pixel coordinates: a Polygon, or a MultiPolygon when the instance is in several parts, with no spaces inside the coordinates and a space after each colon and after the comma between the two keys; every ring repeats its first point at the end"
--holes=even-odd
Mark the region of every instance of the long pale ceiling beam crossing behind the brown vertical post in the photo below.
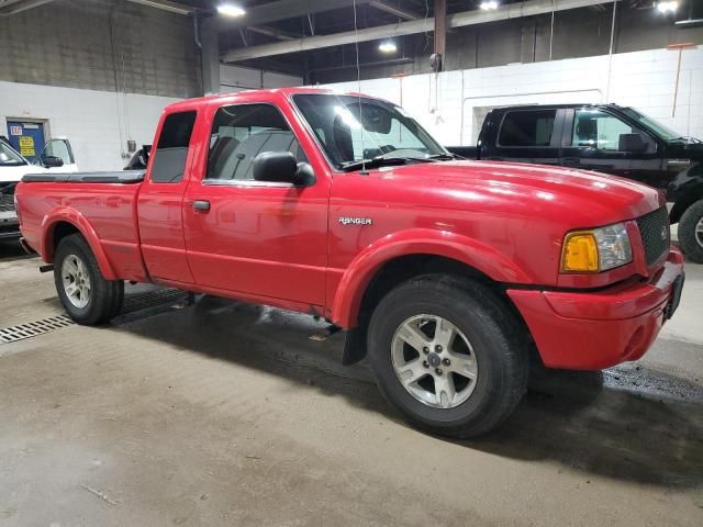
{"type": "MultiPolygon", "coordinates": [[[[467,25],[495,22],[499,20],[534,16],[537,14],[551,13],[553,10],[566,11],[569,9],[588,8],[601,3],[612,3],[613,1],[622,0],[559,0],[558,2],[554,2],[553,0],[528,0],[521,3],[501,5],[494,11],[473,10],[447,15],[447,27],[462,27],[467,25]]],[[[308,36],[297,38],[294,41],[250,46],[246,49],[236,48],[226,52],[222,56],[222,61],[236,63],[250,58],[270,57],[274,55],[284,55],[287,53],[308,52],[319,49],[321,47],[334,47],[345,44],[354,44],[356,42],[377,41],[412,35],[415,33],[432,32],[434,31],[434,18],[419,19],[398,24],[366,27],[358,32],[347,31],[332,35],[308,36]]]]}

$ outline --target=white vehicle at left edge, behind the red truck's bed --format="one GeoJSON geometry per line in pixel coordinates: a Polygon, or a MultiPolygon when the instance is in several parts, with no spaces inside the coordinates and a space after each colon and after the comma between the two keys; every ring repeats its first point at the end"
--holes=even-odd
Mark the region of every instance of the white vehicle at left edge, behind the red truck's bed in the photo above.
{"type": "Polygon", "coordinates": [[[0,137],[0,239],[20,236],[14,210],[14,187],[25,173],[77,172],[70,143],[65,138],[51,139],[36,164],[27,161],[10,143],[0,137]]]}

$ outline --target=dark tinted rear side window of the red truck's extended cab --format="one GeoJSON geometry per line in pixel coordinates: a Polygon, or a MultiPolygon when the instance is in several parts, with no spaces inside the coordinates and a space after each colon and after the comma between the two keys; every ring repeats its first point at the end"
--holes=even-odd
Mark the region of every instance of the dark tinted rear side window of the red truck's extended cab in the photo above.
{"type": "Polygon", "coordinates": [[[152,181],[155,183],[177,183],[183,179],[188,145],[196,123],[196,112],[171,113],[164,121],[153,153],[152,181]]]}

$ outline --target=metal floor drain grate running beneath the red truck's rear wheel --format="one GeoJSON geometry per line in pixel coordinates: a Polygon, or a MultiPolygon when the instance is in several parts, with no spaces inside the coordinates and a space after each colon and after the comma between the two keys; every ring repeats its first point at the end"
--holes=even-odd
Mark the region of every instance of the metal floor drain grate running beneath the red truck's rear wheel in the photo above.
{"type": "MultiPolygon", "coordinates": [[[[136,313],[149,307],[168,304],[188,299],[188,293],[178,289],[161,289],[148,291],[146,293],[137,293],[126,295],[121,315],[136,313]]],[[[36,337],[45,333],[60,329],[62,327],[72,326],[76,324],[68,315],[55,315],[42,321],[27,322],[11,327],[0,327],[0,344],[14,343],[25,338],[36,337]]]]}

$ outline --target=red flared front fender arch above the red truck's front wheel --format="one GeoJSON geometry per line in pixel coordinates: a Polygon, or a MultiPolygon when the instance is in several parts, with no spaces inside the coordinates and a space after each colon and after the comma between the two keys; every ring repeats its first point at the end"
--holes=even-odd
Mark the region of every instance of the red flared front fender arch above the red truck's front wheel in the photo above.
{"type": "Polygon", "coordinates": [[[361,250],[344,272],[332,306],[332,322],[357,325],[364,293],[384,264],[402,256],[434,255],[466,264],[498,282],[531,283],[527,273],[494,248],[446,231],[412,228],[377,239],[361,250]]]}

